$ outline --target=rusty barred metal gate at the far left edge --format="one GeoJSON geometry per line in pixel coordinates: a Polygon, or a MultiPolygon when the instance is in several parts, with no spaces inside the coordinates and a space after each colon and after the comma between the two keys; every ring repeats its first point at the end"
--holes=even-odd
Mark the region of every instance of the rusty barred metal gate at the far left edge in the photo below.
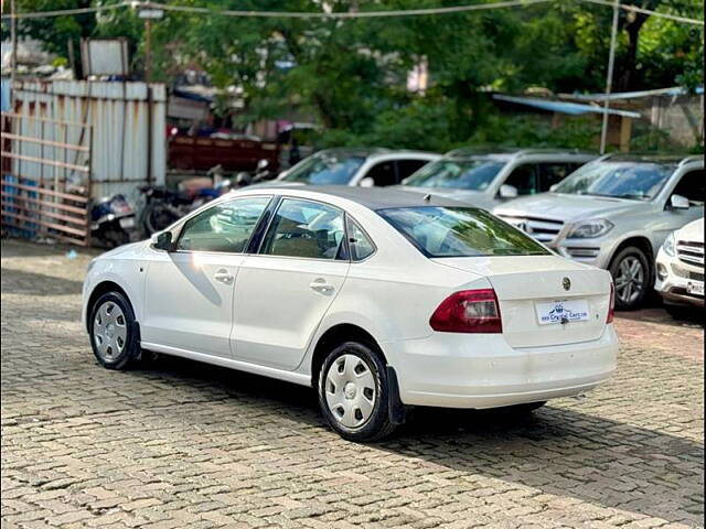
{"type": "Polygon", "coordinates": [[[2,112],[2,229],[90,244],[90,126],[2,112]]]}

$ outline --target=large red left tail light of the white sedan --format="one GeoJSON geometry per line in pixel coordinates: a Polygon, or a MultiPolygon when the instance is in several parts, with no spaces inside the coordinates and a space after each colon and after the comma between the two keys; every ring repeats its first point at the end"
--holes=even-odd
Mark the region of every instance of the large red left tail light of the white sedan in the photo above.
{"type": "Polygon", "coordinates": [[[429,325],[442,333],[502,333],[495,291],[462,290],[449,295],[434,312],[429,325]]]}

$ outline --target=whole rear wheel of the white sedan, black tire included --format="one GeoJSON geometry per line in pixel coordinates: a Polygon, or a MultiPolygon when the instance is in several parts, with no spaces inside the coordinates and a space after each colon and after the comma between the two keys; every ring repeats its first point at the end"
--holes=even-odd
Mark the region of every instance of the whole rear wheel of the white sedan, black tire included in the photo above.
{"type": "Polygon", "coordinates": [[[395,430],[387,369],[368,345],[345,342],[335,347],[323,361],[318,387],[323,417],[343,439],[378,441],[395,430]]]}

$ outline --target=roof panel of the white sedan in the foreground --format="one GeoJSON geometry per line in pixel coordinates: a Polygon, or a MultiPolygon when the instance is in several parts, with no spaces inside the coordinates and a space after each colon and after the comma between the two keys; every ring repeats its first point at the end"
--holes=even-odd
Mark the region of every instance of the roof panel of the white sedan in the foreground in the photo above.
{"type": "MultiPolygon", "coordinates": [[[[247,194],[247,187],[236,191],[238,194],[247,194]]],[[[256,191],[256,190],[253,190],[256,191]]],[[[312,198],[325,201],[327,197],[343,198],[354,202],[372,210],[388,209],[395,207],[419,207],[419,206],[448,206],[468,207],[467,204],[430,193],[425,195],[417,192],[391,190],[385,187],[357,187],[349,185],[317,185],[310,186],[272,186],[267,187],[268,194],[290,195],[301,198],[312,198]],[[428,199],[425,199],[427,198],[428,199]]]]}

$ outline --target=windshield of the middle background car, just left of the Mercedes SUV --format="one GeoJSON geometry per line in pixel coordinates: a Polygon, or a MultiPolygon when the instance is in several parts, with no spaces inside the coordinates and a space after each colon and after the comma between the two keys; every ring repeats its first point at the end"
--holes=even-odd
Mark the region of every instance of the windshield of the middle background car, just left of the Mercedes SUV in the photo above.
{"type": "Polygon", "coordinates": [[[504,162],[489,158],[437,160],[407,177],[403,185],[484,191],[503,165],[504,162]]]}

